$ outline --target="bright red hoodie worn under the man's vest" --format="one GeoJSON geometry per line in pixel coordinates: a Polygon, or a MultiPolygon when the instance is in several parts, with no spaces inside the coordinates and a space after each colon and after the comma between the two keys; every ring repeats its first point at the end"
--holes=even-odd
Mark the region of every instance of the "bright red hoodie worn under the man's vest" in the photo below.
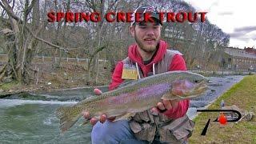
{"type": "MultiPolygon", "coordinates": [[[[166,54],[167,49],[167,43],[164,41],[160,41],[158,51],[156,54],[154,54],[154,58],[152,61],[144,66],[144,63],[142,61],[142,57],[138,53],[137,45],[131,45],[128,50],[128,57],[130,60],[134,62],[138,62],[138,66],[140,66],[142,73],[144,77],[147,76],[149,72],[152,72],[153,70],[153,63],[157,63],[162,60],[164,54],[166,54]]],[[[171,60],[171,59],[170,59],[171,60]]],[[[116,87],[118,87],[122,82],[122,66],[123,62],[118,62],[118,64],[115,66],[114,72],[112,74],[112,82],[110,83],[110,90],[114,90],[116,87]]],[[[174,58],[172,59],[172,62],[170,63],[169,71],[172,70],[186,70],[186,63],[181,55],[175,54],[174,58]]],[[[174,108],[167,110],[164,114],[170,118],[180,118],[184,114],[186,114],[186,111],[189,107],[190,100],[182,100],[178,102],[178,106],[175,106],[174,108]]]]}

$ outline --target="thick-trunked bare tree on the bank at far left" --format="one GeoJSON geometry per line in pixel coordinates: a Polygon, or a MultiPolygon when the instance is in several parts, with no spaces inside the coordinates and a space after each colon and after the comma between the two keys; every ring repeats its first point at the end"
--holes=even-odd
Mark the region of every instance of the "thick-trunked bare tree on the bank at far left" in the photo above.
{"type": "Polygon", "coordinates": [[[39,4],[38,0],[31,2],[26,0],[25,3],[20,1],[19,4],[15,0],[10,2],[2,0],[0,2],[0,6],[6,11],[10,22],[10,33],[6,34],[6,40],[9,43],[7,45],[8,63],[0,70],[1,78],[10,77],[20,83],[30,83],[30,73],[33,70],[30,64],[34,58],[38,40],[60,50],[65,50],[61,46],[38,38],[47,24],[47,21],[41,21],[39,4]],[[12,6],[10,6],[11,3],[13,3],[12,6]],[[21,5],[16,7],[18,10],[21,9],[21,13],[14,13],[14,4],[21,5]]]}

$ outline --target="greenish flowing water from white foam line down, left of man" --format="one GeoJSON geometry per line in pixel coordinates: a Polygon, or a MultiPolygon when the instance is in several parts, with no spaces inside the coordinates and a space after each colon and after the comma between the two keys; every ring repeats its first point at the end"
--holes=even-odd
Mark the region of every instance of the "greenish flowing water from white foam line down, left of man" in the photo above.
{"type": "Polygon", "coordinates": [[[74,102],[0,99],[0,103],[0,143],[90,143],[91,126],[76,125],[64,134],[58,130],[54,110],[74,102]]]}

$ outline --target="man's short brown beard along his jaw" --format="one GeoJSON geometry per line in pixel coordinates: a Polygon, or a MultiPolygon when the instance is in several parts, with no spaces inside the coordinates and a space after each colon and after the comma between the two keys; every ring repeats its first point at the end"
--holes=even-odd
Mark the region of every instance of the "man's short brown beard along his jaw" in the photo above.
{"type": "Polygon", "coordinates": [[[152,53],[154,52],[155,50],[157,50],[157,47],[158,47],[158,44],[160,42],[160,38],[156,39],[156,43],[154,45],[144,45],[143,44],[143,40],[140,40],[137,38],[137,35],[136,35],[136,32],[134,34],[134,38],[135,38],[135,41],[137,42],[138,46],[143,50],[145,51],[146,53],[152,53]]]}

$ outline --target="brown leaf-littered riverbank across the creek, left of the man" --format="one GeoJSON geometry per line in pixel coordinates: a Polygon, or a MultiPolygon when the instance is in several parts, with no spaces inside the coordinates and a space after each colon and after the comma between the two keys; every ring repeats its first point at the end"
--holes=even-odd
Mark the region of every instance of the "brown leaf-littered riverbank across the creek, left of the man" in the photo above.
{"type": "Polygon", "coordinates": [[[29,92],[50,92],[52,90],[72,89],[87,86],[106,86],[110,83],[111,72],[107,63],[100,62],[98,82],[86,81],[86,62],[63,62],[60,66],[54,66],[52,62],[34,62],[38,66],[37,74],[31,78],[28,85],[12,82],[6,78],[6,82],[0,82],[0,98],[8,95],[29,92]]]}

